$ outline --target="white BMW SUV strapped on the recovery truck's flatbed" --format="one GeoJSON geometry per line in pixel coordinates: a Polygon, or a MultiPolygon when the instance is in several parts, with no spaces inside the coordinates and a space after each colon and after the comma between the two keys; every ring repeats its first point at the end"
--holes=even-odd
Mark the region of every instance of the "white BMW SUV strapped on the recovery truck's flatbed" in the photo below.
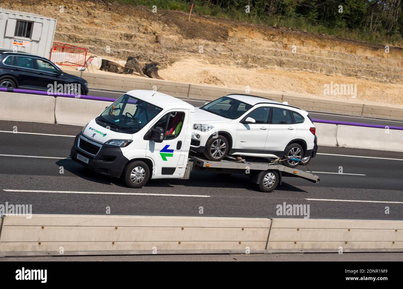
{"type": "Polygon", "coordinates": [[[258,96],[229,94],[195,108],[191,149],[211,161],[225,155],[281,158],[288,167],[312,155],[316,128],[305,110],[258,96]]]}

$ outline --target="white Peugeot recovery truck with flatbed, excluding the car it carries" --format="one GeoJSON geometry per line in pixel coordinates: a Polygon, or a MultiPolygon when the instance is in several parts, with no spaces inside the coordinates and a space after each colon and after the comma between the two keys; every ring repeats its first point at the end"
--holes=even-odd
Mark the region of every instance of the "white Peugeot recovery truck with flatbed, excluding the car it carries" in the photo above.
{"type": "Polygon", "coordinates": [[[131,188],[149,179],[189,179],[192,171],[243,173],[263,192],[281,184],[282,176],[314,183],[319,177],[274,160],[238,161],[226,156],[209,161],[190,151],[194,107],[164,93],[133,90],[91,120],[76,136],[71,158],[103,175],[122,178],[131,188]]]}

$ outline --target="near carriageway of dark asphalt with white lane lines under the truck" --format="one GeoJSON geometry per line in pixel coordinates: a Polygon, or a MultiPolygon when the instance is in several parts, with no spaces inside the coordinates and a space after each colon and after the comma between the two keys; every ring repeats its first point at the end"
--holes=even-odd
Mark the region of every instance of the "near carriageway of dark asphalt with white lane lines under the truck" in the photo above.
{"type": "Polygon", "coordinates": [[[403,153],[319,147],[308,165],[318,172],[319,184],[283,178],[272,193],[260,192],[245,175],[212,173],[192,173],[190,180],[150,180],[141,189],[130,189],[68,158],[80,130],[0,121],[0,204],[32,204],[33,214],[105,214],[109,206],[116,215],[199,215],[202,206],[203,216],[287,217],[276,215],[276,205],[286,202],[309,204],[310,218],[403,220],[403,153]],[[18,133],[12,133],[14,126],[18,133]]]}

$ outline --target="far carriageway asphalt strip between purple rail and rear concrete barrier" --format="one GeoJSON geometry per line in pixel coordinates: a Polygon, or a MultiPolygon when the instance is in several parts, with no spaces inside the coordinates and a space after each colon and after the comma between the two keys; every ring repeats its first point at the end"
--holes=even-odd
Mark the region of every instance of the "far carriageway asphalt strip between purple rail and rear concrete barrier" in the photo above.
{"type": "MultiPolygon", "coordinates": [[[[118,98],[124,92],[119,91],[106,91],[100,89],[89,89],[88,94],[93,96],[102,96],[102,97],[110,97],[110,98],[118,98]]],[[[199,107],[207,103],[208,101],[201,101],[195,99],[183,99],[187,103],[190,103],[194,107],[199,107]]],[[[343,116],[339,114],[326,114],[326,113],[315,113],[310,112],[309,115],[311,118],[318,119],[318,120],[337,120],[341,122],[358,122],[362,124],[378,124],[382,126],[401,126],[403,127],[403,120],[382,120],[380,118],[369,118],[369,117],[362,117],[362,116],[343,116]]]]}

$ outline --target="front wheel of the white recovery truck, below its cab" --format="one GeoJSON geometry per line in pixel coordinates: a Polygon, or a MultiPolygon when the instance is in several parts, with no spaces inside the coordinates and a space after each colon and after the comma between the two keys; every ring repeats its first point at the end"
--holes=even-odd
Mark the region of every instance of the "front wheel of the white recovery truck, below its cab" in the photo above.
{"type": "Polygon", "coordinates": [[[122,174],[123,181],[130,188],[141,188],[150,177],[150,169],[143,161],[129,163],[122,174]]]}

